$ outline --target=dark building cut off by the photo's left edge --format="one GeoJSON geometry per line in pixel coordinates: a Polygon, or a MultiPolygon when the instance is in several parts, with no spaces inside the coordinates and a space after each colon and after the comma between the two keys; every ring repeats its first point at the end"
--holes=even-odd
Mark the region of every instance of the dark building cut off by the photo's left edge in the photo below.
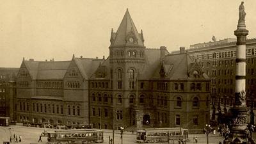
{"type": "Polygon", "coordinates": [[[19,68],[0,68],[0,116],[15,120],[15,81],[19,68]]]}

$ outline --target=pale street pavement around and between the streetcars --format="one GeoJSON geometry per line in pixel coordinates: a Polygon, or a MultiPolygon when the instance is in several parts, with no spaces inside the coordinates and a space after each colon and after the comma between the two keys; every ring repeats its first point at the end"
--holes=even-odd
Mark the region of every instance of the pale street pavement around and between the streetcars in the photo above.
{"type": "MultiPolygon", "coordinates": [[[[48,129],[48,128],[37,128],[37,127],[25,127],[25,126],[19,126],[19,125],[11,125],[10,127],[0,127],[0,144],[3,143],[3,141],[10,141],[10,136],[13,134],[16,136],[22,136],[22,141],[19,142],[20,144],[30,144],[30,143],[42,143],[45,144],[47,142],[47,138],[42,137],[42,142],[38,142],[39,135],[43,131],[54,131],[54,129],[48,129]]],[[[111,130],[103,130],[104,131],[104,143],[108,144],[108,137],[110,136],[112,138],[112,131],[111,130]]],[[[189,141],[188,143],[193,143],[193,136],[196,136],[198,138],[198,143],[206,143],[207,137],[206,134],[189,134],[189,141]]],[[[136,132],[132,134],[131,132],[124,132],[123,136],[123,143],[129,144],[129,143],[136,143],[136,132]]],[[[209,134],[209,143],[218,143],[219,141],[223,142],[223,137],[220,137],[217,133],[209,134]]],[[[170,141],[172,144],[173,141],[170,141]]],[[[177,143],[177,141],[175,141],[177,143]]],[[[121,144],[120,139],[120,131],[115,132],[115,144],[121,144]]]]}

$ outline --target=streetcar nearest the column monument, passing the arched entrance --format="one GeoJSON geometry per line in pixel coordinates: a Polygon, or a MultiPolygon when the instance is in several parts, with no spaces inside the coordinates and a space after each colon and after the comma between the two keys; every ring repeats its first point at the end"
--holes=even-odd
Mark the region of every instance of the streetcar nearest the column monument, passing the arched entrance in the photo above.
{"type": "Polygon", "coordinates": [[[188,141],[188,129],[182,128],[156,128],[137,131],[137,143],[157,143],[169,140],[188,141]]]}

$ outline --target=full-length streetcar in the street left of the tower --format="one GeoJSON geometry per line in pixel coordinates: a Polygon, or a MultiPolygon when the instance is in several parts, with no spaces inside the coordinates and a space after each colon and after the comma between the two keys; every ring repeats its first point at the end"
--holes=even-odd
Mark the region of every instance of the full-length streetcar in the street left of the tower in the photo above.
{"type": "Polygon", "coordinates": [[[103,143],[100,129],[70,129],[48,132],[47,144],[103,143]]]}

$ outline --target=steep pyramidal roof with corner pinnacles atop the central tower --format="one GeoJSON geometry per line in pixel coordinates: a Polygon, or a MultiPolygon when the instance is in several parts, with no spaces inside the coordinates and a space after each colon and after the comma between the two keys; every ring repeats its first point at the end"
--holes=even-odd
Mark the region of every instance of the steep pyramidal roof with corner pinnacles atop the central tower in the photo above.
{"type": "Polygon", "coordinates": [[[144,47],[143,33],[138,33],[128,9],[116,33],[112,29],[110,42],[110,47],[144,47]]]}

